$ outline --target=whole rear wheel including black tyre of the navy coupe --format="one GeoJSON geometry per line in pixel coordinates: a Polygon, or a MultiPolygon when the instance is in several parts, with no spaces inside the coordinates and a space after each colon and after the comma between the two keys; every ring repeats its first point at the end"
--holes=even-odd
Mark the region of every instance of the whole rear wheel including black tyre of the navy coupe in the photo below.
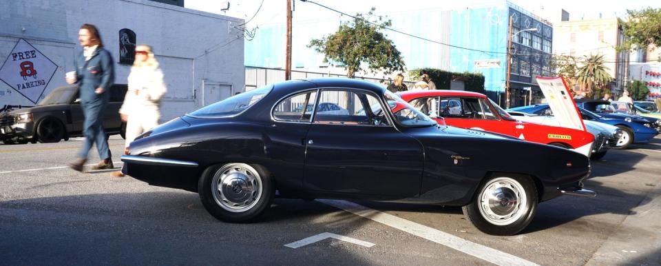
{"type": "Polygon", "coordinates": [[[275,186],[259,165],[227,163],[207,168],[198,192],[204,208],[218,220],[248,223],[271,206],[275,186]]]}

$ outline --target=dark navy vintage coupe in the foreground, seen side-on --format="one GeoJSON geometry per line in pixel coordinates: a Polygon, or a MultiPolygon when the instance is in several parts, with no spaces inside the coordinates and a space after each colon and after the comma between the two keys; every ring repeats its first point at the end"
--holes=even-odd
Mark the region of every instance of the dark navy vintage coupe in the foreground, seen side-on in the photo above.
{"type": "Polygon", "coordinates": [[[511,235],[542,201],[595,196],[583,190],[583,154],[439,125],[354,79],[286,81],[232,96],[138,136],[122,161],[129,176],[197,192],[211,215],[231,223],[254,221],[277,195],[463,206],[481,231],[511,235]],[[319,114],[322,102],[348,114],[319,114]],[[313,110],[295,111],[308,104],[313,110]]]}

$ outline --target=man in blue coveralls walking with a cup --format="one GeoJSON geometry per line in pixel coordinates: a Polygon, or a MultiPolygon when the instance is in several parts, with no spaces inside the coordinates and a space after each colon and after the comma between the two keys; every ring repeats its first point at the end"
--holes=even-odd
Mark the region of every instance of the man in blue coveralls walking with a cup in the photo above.
{"type": "Polygon", "coordinates": [[[111,169],[112,157],[108,139],[103,130],[103,113],[109,100],[110,86],[114,82],[114,65],[110,52],[103,49],[103,41],[94,25],[83,24],[78,30],[78,41],[83,52],[74,60],[75,73],[67,73],[67,83],[78,83],[81,107],[85,115],[83,136],[85,141],[76,161],[70,163],[73,170],[82,172],[87,154],[96,143],[101,162],[92,170],[111,169]]]}

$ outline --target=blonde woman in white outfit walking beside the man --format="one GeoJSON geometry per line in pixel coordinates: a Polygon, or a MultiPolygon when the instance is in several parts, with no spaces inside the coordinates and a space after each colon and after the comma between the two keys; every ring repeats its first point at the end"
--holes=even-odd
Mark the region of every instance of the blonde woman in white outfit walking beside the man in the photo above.
{"type": "MultiPolygon", "coordinates": [[[[128,90],[119,110],[122,121],[126,122],[125,147],[129,147],[136,137],[158,125],[160,100],[167,92],[163,72],[158,67],[151,46],[136,46],[136,60],[128,77],[128,90]]],[[[124,176],[120,171],[113,176],[124,176]]]]}

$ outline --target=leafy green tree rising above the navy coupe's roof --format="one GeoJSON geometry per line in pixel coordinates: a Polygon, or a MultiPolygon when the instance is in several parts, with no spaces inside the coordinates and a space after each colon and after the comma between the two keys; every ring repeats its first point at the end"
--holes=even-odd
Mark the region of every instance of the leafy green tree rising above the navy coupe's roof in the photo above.
{"type": "Polygon", "coordinates": [[[346,65],[346,76],[352,78],[355,72],[366,70],[366,63],[372,72],[382,70],[385,74],[404,71],[404,62],[395,44],[379,32],[392,24],[381,16],[374,15],[372,8],[367,16],[356,14],[355,19],[345,21],[337,32],[322,39],[313,39],[308,48],[325,54],[324,63],[335,61],[346,65]]]}

